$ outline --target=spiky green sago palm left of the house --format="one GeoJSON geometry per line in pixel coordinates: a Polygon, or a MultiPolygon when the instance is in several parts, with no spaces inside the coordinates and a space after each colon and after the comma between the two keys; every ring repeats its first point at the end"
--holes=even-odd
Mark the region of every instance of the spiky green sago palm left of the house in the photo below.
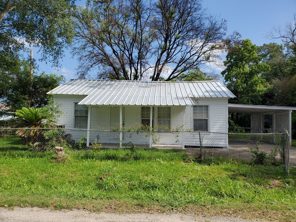
{"type": "Polygon", "coordinates": [[[25,138],[33,138],[41,132],[40,128],[48,127],[48,120],[42,113],[42,108],[26,108],[18,109],[15,115],[19,117],[19,121],[15,128],[22,128],[16,131],[16,134],[25,138]]]}

